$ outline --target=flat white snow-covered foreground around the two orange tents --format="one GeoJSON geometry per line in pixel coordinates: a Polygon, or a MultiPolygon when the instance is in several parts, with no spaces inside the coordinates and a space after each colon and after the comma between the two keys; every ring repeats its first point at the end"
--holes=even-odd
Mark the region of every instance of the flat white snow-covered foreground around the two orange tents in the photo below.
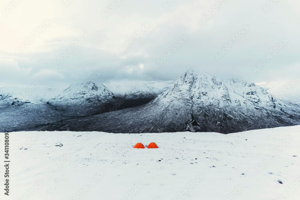
{"type": "Polygon", "coordinates": [[[10,161],[10,196],[1,164],[0,199],[300,199],[300,126],[227,135],[15,132],[10,161]]]}

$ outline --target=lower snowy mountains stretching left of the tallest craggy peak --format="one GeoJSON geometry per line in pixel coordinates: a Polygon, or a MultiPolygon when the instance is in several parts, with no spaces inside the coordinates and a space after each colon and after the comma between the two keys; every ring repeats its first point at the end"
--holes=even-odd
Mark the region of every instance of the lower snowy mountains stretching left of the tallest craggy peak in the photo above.
{"type": "Polygon", "coordinates": [[[0,128],[24,130],[57,121],[140,106],[160,90],[148,85],[114,87],[85,82],[61,90],[54,87],[0,87],[0,128]]]}

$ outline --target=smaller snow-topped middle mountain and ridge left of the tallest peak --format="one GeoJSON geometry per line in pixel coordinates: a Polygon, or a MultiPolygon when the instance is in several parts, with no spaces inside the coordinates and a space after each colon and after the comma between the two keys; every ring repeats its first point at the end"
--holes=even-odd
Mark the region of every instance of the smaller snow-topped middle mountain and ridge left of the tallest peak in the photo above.
{"type": "Polygon", "coordinates": [[[70,85],[47,103],[64,110],[68,116],[87,116],[115,111],[150,102],[160,89],[146,84],[133,86],[103,85],[85,82],[70,85]]]}

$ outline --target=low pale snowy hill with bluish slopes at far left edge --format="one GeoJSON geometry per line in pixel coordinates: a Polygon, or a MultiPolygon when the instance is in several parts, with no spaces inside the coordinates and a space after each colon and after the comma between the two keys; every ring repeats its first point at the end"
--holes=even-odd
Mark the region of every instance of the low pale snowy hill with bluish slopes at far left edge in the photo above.
{"type": "Polygon", "coordinates": [[[21,130],[70,119],[45,102],[58,92],[52,87],[0,87],[1,130],[21,130]]]}

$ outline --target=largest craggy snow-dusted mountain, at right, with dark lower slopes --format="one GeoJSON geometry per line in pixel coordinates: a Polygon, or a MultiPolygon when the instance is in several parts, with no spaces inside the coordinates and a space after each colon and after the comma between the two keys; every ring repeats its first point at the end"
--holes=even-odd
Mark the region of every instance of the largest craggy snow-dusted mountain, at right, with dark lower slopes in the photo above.
{"type": "Polygon", "coordinates": [[[240,77],[222,81],[190,70],[173,87],[143,106],[81,118],[78,123],[61,123],[76,124],[71,130],[113,133],[233,133],[298,125],[300,109],[240,77]]]}

